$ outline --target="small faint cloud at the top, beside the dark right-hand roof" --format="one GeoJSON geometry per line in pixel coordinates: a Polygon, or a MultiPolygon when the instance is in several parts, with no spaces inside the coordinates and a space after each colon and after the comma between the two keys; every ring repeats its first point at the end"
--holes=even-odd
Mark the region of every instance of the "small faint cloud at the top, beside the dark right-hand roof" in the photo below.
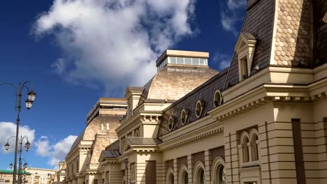
{"type": "Polygon", "coordinates": [[[240,9],[245,9],[246,5],[246,0],[228,0],[226,4],[223,4],[223,8],[220,13],[222,28],[236,36],[238,34],[238,30],[235,27],[235,24],[242,20],[242,18],[240,18],[242,17],[240,14],[240,9]]]}

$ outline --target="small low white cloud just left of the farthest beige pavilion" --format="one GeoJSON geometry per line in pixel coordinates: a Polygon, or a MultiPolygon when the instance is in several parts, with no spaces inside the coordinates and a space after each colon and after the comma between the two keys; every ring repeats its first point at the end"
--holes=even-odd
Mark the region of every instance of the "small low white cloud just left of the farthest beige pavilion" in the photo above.
{"type": "Polygon", "coordinates": [[[69,135],[56,143],[51,143],[48,137],[41,136],[36,142],[36,154],[49,157],[48,164],[57,168],[58,162],[64,160],[76,138],[75,135],[69,135]]]}

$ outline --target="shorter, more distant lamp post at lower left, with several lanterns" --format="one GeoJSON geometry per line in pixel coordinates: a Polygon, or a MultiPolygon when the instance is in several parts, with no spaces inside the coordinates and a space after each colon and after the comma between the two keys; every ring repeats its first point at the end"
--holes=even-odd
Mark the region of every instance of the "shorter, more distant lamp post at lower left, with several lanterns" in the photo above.
{"type": "MultiPolygon", "coordinates": [[[[10,144],[9,144],[9,139],[13,138],[13,137],[16,137],[16,136],[12,136],[12,137],[9,137],[8,140],[7,140],[7,143],[5,144],[5,149],[8,150],[10,144]]],[[[17,138],[16,138],[17,139],[17,138]]],[[[22,141],[26,139],[26,143],[25,143],[25,150],[26,151],[29,151],[29,148],[31,147],[31,144],[29,143],[29,137],[27,137],[26,135],[24,135],[24,137],[21,135],[20,136],[20,139],[18,140],[19,141],[19,149],[18,151],[20,152],[20,158],[19,158],[19,166],[18,166],[18,184],[21,183],[21,177],[22,177],[22,141]]],[[[26,167],[28,166],[27,162],[24,163],[24,166],[23,168],[25,169],[26,167]]],[[[11,169],[11,167],[13,167],[13,164],[9,164],[9,167],[11,169]]],[[[15,164],[14,164],[14,168],[15,168],[15,164]]],[[[15,171],[14,171],[15,172],[15,171]]],[[[15,176],[15,175],[14,175],[15,176]]],[[[15,181],[16,178],[13,178],[13,181],[15,181]]]]}

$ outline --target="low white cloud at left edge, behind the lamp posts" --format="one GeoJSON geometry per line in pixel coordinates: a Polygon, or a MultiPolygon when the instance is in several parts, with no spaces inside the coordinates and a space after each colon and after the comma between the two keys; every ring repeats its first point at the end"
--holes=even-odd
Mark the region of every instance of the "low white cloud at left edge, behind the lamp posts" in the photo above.
{"type": "MultiPolygon", "coordinates": [[[[15,151],[15,138],[9,139],[9,149],[6,151],[5,148],[3,148],[3,145],[6,144],[7,139],[9,137],[15,136],[16,135],[16,123],[11,123],[11,122],[0,122],[0,146],[1,151],[3,153],[13,153],[15,151]]],[[[35,130],[31,130],[28,126],[20,126],[20,135],[23,137],[26,135],[29,139],[29,142],[31,143],[31,146],[33,145],[34,141],[34,134],[35,130]]],[[[26,139],[23,140],[23,145],[26,143],[26,139]]]]}

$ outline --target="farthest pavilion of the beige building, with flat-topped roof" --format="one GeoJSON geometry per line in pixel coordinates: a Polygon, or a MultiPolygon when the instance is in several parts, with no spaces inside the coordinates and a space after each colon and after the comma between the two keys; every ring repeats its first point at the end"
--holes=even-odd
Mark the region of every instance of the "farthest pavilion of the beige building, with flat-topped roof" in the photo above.
{"type": "Polygon", "coordinates": [[[65,162],[59,162],[59,178],[64,175],[64,183],[94,183],[101,151],[117,140],[115,129],[126,114],[126,108],[124,99],[100,98],[96,102],[87,114],[85,130],[73,143],[65,162]]]}

